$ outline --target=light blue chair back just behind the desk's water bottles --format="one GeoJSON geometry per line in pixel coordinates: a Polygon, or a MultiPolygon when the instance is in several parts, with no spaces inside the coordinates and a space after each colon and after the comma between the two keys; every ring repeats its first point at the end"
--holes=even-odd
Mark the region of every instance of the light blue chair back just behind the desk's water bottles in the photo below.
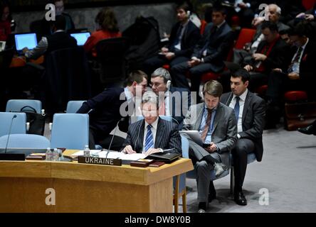
{"type": "Polygon", "coordinates": [[[83,150],[89,145],[88,114],[54,114],[51,148],[83,150]]]}

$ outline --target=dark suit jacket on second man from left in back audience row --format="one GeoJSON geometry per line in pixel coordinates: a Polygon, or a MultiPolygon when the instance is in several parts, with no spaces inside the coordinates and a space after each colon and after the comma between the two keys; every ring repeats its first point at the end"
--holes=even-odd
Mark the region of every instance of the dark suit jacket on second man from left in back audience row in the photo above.
{"type": "Polygon", "coordinates": [[[226,60],[229,50],[233,45],[233,31],[231,27],[228,26],[228,23],[225,22],[218,28],[216,33],[213,35],[211,34],[212,28],[214,27],[213,23],[209,23],[204,31],[204,34],[199,40],[199,43],[196,44],[194,47],[194,51],[191,57],[197,57],[201,59],[202,52],[204,46],[207,45],[207,53],[206,57],[204,58],[205,63],[211,63],[211,70],[213,72],[218,72],[223,69],[224,63],[223,61],[226,60]]]}

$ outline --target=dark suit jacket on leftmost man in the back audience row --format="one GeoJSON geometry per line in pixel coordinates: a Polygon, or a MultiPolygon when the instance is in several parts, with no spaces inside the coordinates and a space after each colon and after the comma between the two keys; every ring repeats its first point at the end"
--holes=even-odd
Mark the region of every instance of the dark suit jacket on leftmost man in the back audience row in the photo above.
{"type": "MultiPolygon", "coordinates": [[[[172,50],[172,45],[174,45],[175,40],[177,39],[177,33],[179,30],[180,22],[176,23],[172,27],[172,32],[170,33],[169,38],[169,45],[167,45],[167,48],[169,50],[172,50]]],[[[194,48],[194,45],[199,41],[201,38],[201,33],[198,27],[192,23],[192,21],[189,21],[186,29],[184,31],[184,34],[181,39],[181,50],[174,52],[175,57],[184,56],[184,57],[190,57],[194,48]]]]}

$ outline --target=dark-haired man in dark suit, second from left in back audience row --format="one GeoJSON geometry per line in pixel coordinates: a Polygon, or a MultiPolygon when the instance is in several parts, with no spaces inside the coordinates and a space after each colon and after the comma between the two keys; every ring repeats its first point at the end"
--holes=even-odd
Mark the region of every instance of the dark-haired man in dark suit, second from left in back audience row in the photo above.
{"type": "Polygon", "coordinates": [[[171,67],[172,79],[176,87],[186,87],[186,71],[191,77],[191,92],[199,92],[201,75],[205,72],[223,70],[223,60],[226,59],[233,43],[233,31],[225,21],[226,11],[222,7],[214,8],[212,22],[206,26],[204,35],[194,47],[191,59],[171,67]]]}

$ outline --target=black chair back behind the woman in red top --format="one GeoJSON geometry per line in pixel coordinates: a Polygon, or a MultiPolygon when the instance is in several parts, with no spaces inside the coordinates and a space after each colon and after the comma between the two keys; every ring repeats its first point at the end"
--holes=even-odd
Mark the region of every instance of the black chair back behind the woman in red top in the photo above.
{"type": "Polygon", "coordinates": [[[100,65],[100,80],[103,84],[116,83],[125,79],[127,48],[127,38],[123,37],[100,40],[96,45],[97,59],[100,65]]]}

